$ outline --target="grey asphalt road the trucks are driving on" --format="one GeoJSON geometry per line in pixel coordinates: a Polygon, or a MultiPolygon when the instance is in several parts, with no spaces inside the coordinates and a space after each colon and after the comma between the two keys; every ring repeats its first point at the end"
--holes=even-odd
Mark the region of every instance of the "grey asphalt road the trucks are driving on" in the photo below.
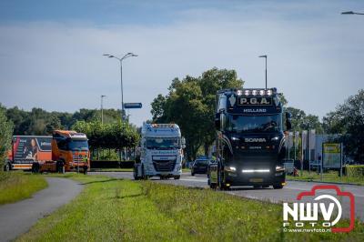
{"type": "MultiPolygon", "coordinates": [[[[112,176],[116,178],[127,178],[133,179],[131,172],[94,172],[89,174],[99,174],[104,176],[112,176]]],[[[159,180],[157,177],[152,178],[156,182],[168,183],[177,186],[185,187],[205,187],[207,186],[207,176],[196,175],[190,176],[189,173],[183,173],[179,180],[159,180]]],[[[235,195],[238,197],[248,197],[252,199],[270,201],[272,203],[282,204],[282,202],[297,202],[296,197],[300,192],[310,191],[314,185],[329,185],[324,183],[316,182],[300,182],[300,181],[287,181],[287,185],[283,189],[270,188],[259,188],[254,189],[253,187],[232,187],[231,190],[225,191],[228,194],[235,195]]],[[[336,185],[336,184],[334,184],[336,185]]],[[[337,185],[341,191],[351,192],[355,197],[355,217],[358,217],[361,221],[364,221],[364,187],[355,185],[337,185]]],[[[336,192],[334,190],[318,191],[317,194],[329,194],[334,197],[336,192]]],[[[343,209],[343,216],[349,217],[349,198],[348,197],[337,197],[340,201],[343,209]]],[[[308,197],[303,201],[308,200],[308,197]]],[[[324,201],[327,203],[328,201],[324,201]]]]}

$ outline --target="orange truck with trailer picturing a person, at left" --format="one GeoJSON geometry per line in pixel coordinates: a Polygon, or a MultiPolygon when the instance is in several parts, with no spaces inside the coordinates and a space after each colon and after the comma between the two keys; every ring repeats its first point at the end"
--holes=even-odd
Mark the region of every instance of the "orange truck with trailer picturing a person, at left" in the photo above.
{"type": "Polygon", "coordinates": [[[14,136],[5,169],[31,169],[32,172],[77,171],[90,169],[90,152],[85,134],[55,130],[53,136],[14,136]]]}

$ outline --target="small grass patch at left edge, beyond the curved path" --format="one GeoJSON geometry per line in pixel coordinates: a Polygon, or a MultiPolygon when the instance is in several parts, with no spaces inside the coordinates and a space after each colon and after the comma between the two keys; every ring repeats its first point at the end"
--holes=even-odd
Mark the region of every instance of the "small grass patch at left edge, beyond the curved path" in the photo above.
{"type": "Polygon", "coordinates": [[[0,174],[0,205],[32,197],[47,187],[45,177],[23,171],[3,172],[0,174]]]}

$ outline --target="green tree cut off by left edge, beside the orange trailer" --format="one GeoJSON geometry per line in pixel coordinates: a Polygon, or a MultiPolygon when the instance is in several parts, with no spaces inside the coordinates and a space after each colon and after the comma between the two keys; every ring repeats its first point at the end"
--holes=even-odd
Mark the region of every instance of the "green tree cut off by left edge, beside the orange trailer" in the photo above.
{"type": "Polygon", "coordinates": [[[5,115],[5,107],[0,104],[0,172],[3,170],[5,156],[11,149],[13,123],[5,115]]]}

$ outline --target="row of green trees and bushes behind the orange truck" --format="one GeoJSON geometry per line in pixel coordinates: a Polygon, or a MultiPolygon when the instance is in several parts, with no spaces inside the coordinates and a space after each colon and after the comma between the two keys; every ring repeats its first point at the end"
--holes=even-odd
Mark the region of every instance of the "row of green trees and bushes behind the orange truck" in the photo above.
{"type": "Polygon", "coordinates": [[[11,148],[11,136],[49,136],[55,129],[85,133],[91,150],[120,150],[135,147],[139,141],[136,126],[122,122],[120,110],[104,109],[104,124],[101,124],[101,112],[97,109],[83,108],[71,114],[47,112],[36,107],[25,111],[17,106],[5,108],[0,104],[0,163],[11,148]]]}

